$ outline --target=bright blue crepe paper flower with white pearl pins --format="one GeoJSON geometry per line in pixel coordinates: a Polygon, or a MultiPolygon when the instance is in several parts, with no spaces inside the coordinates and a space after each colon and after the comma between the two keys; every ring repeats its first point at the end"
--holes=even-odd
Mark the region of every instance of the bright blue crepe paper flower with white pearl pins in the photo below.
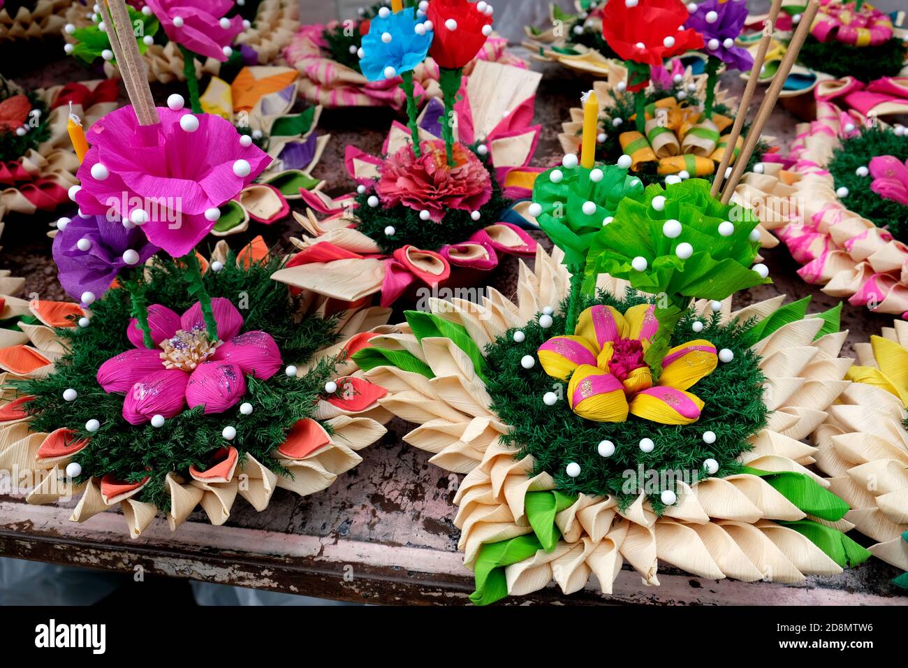
{"type": "Polygon", "coordinates": [[[397,13],[383,9],[362,38],[360,69],[370,81],[410,72],[426,59],[432,44],[431,24],[427,27],[425,16],[417,18],[413,7],[397,13]]]}

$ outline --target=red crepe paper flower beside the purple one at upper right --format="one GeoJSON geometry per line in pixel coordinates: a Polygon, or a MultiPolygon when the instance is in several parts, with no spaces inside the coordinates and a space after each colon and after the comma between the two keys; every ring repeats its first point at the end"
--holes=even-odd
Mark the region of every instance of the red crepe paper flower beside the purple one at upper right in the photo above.
{"type": "Polygon", "coordinates": [[[624,60],[662,65],[666,58],[703,47],[703,35],[683,29],[687,15],[681,0],[644,0],[633,7],[614,0],[606,5],[602,34],[624,60]]]}

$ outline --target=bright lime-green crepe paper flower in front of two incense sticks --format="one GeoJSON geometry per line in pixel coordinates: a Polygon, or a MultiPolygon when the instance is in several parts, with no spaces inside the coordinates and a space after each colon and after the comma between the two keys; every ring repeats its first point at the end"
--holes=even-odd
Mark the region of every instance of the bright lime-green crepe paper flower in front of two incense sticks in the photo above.
{"type": "Polygon", "coordinates": [[[765,266],[752,266],[760,247],[750,238],[756,224],[752,211],[711,196],[709,182],[703,179],[665,190],[649,185],[642,201],[622,200],[615,220],[594,234],[583,290],[595,289],[598,274],[610,274],[658,296],[659,329],[646,352],[646,362],[657,376],[671,333],[692,299],[723,300],[739,290],[771,283],[758,273],[765,266]]]}

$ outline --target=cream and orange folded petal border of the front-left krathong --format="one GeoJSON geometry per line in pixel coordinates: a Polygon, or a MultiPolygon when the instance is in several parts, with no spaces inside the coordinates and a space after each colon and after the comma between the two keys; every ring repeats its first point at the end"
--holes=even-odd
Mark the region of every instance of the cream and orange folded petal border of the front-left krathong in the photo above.
{"type": "MultiPolygon", "coordinates": [[[[2,224],[0,224],[0,229],[2,229],[2,224]]],[[[226,259],[226,254],[226,244],[219,243],[215,247],[212,259],[220,258],[223,261],[226,259]]],[[[2,277],[4,276],[0,276],[0,278],[2,277]]],[[[9,285],[15,290],[22,289],[22,285],[16,282],[9,282],[9,285]]],[[[53,307],[57,305],[46,302],[26,302],[14,295],[2,296],[3,312],[0,313],[0,317],[3,318],[15,317],[15,315],[35,315],[42,322],[51,322],[47,320],[47,317],[52,314],[53,307]]],[[[318,317],[319,310],[324,306],[318,300],[304,299],[303,302],[311,309],[310,317],[318,317]]],[[[360,332],[377,331],[382,334],[390,334],[395,330],[386,324],[389,316],[390,309],[350,309],[337,319],[337,332],[343,337],[343,344],[360,332]]],[[[50,364],[46,365],[46,373],[51,373],[53,360],[64,352],[64,344],[54,333],[54,329],[47,324],[23,324],[22,330],[25,344],[35,346],[34,348],[25,347],[50,360],[50,364]]],[[[313,354],[313,357],[321,359],[325,356],[335,356],[341,352],[343,344],[340,347],[331,346],[324,351],[319,351],[313,354]]],[[[14,345],[22,345],[22,343],[16,341],[14,345]]],[[[338,368],[343,368],[345,377],[360,377],[361,375],[350,360],[338,368]]],[[[29,373],[25,374],[25,377],[34,375],[34,373],[29,373]]],[[[18,397],[6,384],[8,380],[22,377],[22,375],[9,372],[0,374],[0,384],[2,384],[0,411],[4,412],[5,417],[0,422],[0,468],[14,474],[16,487],[31,487],[26,495],[28,503],[51,503],[82,494],[71,517],[74,522],[84,522],[94,514],[102,513],[119,504],[130,536],[138,537],[153,522],[158,511],[152,503],[140,500],[138,494],[142,486],[130,489],[114,498],[104,498],[100,480],[93,478],[85,484],[74,485],[62,472],[81,445],[73,444],[71,452],[64,449],[64,445],[68,447],[67,439],[61,436],[66,431],[64,429],[58,429],[54,434],[43,434],[30,430],[31,418],[16,409],[16,406],[21,404],[24,399],[18,397]],[[40,456],[39,450],[42,452],[40,456]]],[[[171,497],[171,503],[166,517],[171,530],[176,530],[198,505],[202,506],[212,524],[225,523],[230,517],[237,494],[257,510],[262,511],[268,506],[271,495],[278,487],[290,489],[296,494],[312,494],[324,489],[338,475],[360,463],[361,457],[357,451],[374,443],[385,434],[386,430],[382,424],[390,419],[390,414],[380,408],[378,404],[373,404],[363,413],[356,414],[321,401],[316,408],[316,413],[325,413],[323,419],[331,428],[329,442],[298,460],[291,460],[282,456],[280,452],[276,453],[277,458],[291,472],[292,477],[272,473],[267,466],[256,461],[250,454],[246,454],[241,461],[241,457],[233,448],[229,448],[226,459],[214,464],[208,471],[200,472],[192,469],[189,479],[183,480],[173,472],[167,474],[165,484],[171,497]],[[329,411],[326,407],[331,407],[331,410],[329,411]]],[[[492,437],[487,434],[483,441],[481,433],[480,429],[479,432],[471,434],[469,438],[476,439],[476,443],[481,444],[484,448],[492,437]]],[[[501,433],[504,433],[504,427],[498,425],[497,434],[501,433]]],[[[481,452],[478,452],[476,456],[479,461],[481,452]]]]}

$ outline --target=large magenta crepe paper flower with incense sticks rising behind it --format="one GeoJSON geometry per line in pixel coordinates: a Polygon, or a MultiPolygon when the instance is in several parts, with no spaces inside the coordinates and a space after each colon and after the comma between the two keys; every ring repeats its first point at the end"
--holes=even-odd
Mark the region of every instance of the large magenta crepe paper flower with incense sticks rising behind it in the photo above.
{"type": "Polygon", "coordinates": [[[242,145],[221,116],[194,115],[183,122],[186,130],[180,121],[189,111],[157,112],[157,125],[139,125],[131,106],[92,125],[75,201],[84,214],[110,213],[137,224],[147,218],[148,240],[181,257],[212,231],[218,207],[262,174],[271,157],[242,145]]]}

